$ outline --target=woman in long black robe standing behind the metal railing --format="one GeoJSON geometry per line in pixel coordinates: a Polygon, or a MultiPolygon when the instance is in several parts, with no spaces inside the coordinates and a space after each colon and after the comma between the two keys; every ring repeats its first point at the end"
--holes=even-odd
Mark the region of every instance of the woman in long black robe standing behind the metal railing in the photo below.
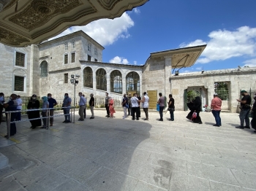
{"type": "MultiPolygon", "coordinates": [[[[27,106],[27,109],[39,109],[39,101],[37,100],[37,95],[32,95],[30,100],[29,100],[29,104],[27,106]]],[[[31,112],[27,112],[29,120],[31,122],[31,127],[32,129],[36,128],[37,126],[41,126],[41,119],[37,119],[37,120],[31,120],[31,119],[35,119],[35,118],[39,118],[40,117],[40,112],[39,111],[31,111],[31,112]]]]}

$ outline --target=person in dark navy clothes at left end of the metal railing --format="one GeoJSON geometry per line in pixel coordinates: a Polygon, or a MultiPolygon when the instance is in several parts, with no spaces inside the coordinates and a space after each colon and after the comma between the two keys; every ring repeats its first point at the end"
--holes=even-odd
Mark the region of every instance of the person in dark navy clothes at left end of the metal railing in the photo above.
{"type": "MultiPolygon", "coordinates": [[[[17,101],[16,101],[17,95],[12,93],[10,95],[10,100],[6,103],[3,104],[3,107],[5,108],[5,112],[10,112],[10,111],[16,111],[17,110],[17,101]]],[[[17,113],[11,113],[10,114],[10,122],[13,122],[15,120],[17,113]]],[[[7,120],[8,121],[8,120],[7,120]]],[[[14,136],[16,134],[16,125],[14,123],[10,123],[10,136],[14,136]]],[[[4,136],[5,138],[8,138],[8,136],[4,136]]]]}

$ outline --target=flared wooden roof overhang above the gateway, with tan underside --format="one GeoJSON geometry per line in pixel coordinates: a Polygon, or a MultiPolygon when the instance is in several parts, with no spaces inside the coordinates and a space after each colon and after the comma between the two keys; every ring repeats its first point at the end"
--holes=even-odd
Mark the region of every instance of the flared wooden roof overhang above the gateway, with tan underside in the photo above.
{"type": "Polygon", "coordinates": [[[171,65],[173,69],[187,68],[195,64],[195,61],[197,61],[197,58],[205,48],[206,44],[195,47],[152,52],[151,58],[171,58],[171,65]]]}

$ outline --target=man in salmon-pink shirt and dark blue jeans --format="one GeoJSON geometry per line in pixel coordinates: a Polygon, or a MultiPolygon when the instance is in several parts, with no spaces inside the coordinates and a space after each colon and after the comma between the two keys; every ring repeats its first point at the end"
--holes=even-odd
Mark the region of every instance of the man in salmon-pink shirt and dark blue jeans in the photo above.
{"type": "Polygon", "coordinates": [[[220,111],[222,110],[222,100],[218,98],[218,93],[214,93],[214,98],[211,100],[211,112],[214,115],[214,126],[222,126],[222,119],[220,118],[220,111]]]}

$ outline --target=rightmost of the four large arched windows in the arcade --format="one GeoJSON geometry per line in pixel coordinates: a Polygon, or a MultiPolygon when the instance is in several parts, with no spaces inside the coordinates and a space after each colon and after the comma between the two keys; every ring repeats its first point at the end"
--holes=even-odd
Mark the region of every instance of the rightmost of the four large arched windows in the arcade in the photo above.
{"type": "Polygon", "coordinates": [[[127,74],[127,93],[137,93],[140,95],[140,76],[135,71],[127,74]]]}

